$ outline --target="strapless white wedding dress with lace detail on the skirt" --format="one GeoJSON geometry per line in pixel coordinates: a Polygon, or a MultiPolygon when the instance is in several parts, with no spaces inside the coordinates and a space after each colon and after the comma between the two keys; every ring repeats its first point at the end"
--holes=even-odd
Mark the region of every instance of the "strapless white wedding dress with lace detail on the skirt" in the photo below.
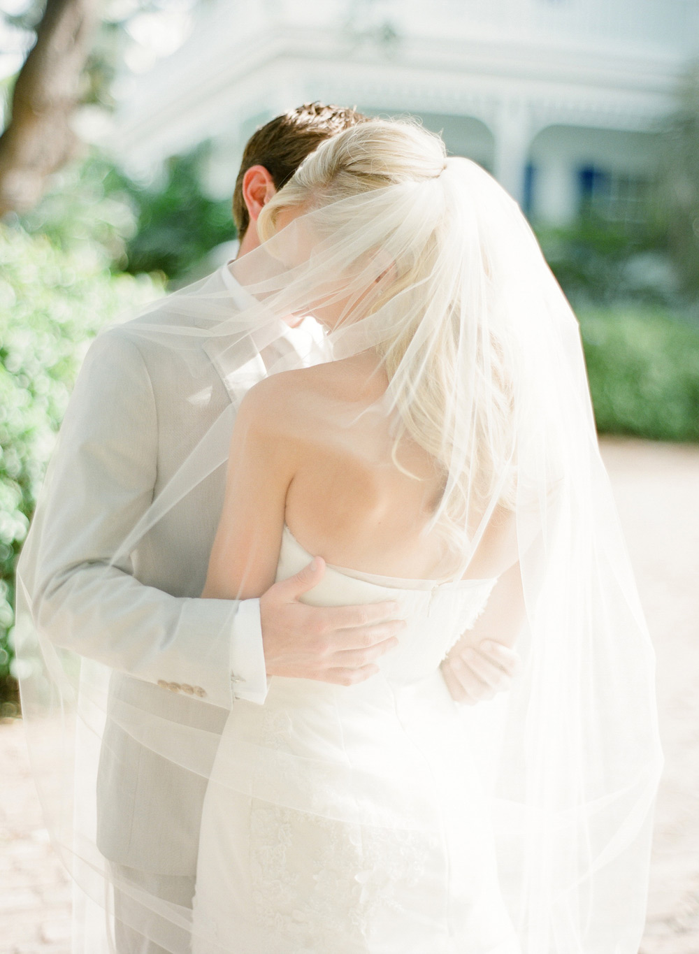
{"type": "MultiPolygon", "coordinates": [[[[310,560],[284,529],[277,579],[310,560]]],[[[444,653],[494,581],[328,568],[309,602],[397,598],[408,621],[352,687],[273,677],[236,700],[204,802],[195,954],[519,954],[444,653]]]]}

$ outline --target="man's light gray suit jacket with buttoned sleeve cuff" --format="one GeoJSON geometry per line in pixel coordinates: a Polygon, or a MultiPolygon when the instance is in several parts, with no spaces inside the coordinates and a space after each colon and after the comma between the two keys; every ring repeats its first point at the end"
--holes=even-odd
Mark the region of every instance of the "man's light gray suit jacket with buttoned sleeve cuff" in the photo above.
{"type": "MultiPolygon", "coordinates": [[[[227,268],[214,281],[234,307],[241,290],[227,268]]],[[[54,643],[113,669],[112,705],[131,703],[220,734],[236,695],[261,703],[267,691],[258,601],[198,598],[225,467],[170,509],[130,561],[109,563],[265,366],[252,348],[226,350],[220,339],[202,340],[185,366],[175,349],[131,334],[138,321],[98,336],[75,384],[36,530],[31,614],[54,643]]],[[[165,299],[147,321],[181,320],[165,299]]],[[[108,718],[97,782],[100,851],[144,871],[194,875],[205,784],[108,718]]]]}

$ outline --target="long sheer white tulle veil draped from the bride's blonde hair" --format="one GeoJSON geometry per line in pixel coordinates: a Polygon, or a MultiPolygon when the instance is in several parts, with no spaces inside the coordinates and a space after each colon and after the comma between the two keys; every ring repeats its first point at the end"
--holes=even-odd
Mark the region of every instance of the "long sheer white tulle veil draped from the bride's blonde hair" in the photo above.
{"type": "MultiPolygon", "coordinates": [[[[464,711],[463,731],[481,734],[487,754],[500,880],[522,949],[635,954],[662,764],[653,653],[599,454],[578,323],[535,237],[478,165],[445,158],[441,140],[417,127],[380,121],[321,145],[259,231],[261,246],[227,266],[235,282],[196,282],[122,334],[167,356],[192,401],[201,400],[208,342],[239,356],[241,373],[261,358],[269,375],[378,352],[389,386],[363,413],[390,419],[396,466],[405,435],[437,462],[443,492],[430,529],[453,557],[449,575],[473,575],[483,548],[497,554],[495,575],[521,570],[524,665],[506,698],[464,711]],[[289,207],[300,214],[278,227],[289,207]],[[289,316],[318,319],[322,341],[285,348],[289,316]]],[[[235,413],[232,404],[201,435],[102,558],[105,572],[134,572],[134,551],[163,516],[226,467],[235,413]]],[[[327,414],[351,441],[353,408],[328,403],[327,414]]],[[[55,458],[70,446],[69,416],[55,458]]],[[[37,754],[43,727],[63,722],[60,764],[43,753],[35,770],[54,844],[84,899],[76,949],[94,951],[117,881],[97,848],[106,727],[203,780],[218,736],[204,720],[183,725],[165,710],[116,703],[108,667],[60,649],[32,622],[50,494],[51,468],[19,566],[16,644],[37,754]]],[[[154,940],[185,954],[189,909],[143,886],[127,890],[154,940]]]]}

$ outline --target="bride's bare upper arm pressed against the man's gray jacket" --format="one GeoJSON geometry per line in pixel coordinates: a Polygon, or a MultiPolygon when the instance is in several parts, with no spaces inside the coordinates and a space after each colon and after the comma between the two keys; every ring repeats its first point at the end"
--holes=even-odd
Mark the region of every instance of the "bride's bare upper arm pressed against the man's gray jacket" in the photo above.
{"type": "Polygon", "coordinates": [[[286,492],[296,470],[291,394],[280,394],[279,384],[256,384],[240,404],[204,597],[249,599],[275,582],[286,492]]]}

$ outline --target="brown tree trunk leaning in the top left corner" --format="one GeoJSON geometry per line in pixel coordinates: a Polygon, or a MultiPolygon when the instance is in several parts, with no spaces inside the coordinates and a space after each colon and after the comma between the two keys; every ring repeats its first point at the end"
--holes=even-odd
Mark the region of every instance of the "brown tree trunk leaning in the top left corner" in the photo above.
{"type": "Polygon", "coordinates": [[[47,0],[14,86],[10,125],[0,136],[0,217],[31,209],[47,176],[74,155],[70,120],[98,6],[99,0],[47,0]]]}

